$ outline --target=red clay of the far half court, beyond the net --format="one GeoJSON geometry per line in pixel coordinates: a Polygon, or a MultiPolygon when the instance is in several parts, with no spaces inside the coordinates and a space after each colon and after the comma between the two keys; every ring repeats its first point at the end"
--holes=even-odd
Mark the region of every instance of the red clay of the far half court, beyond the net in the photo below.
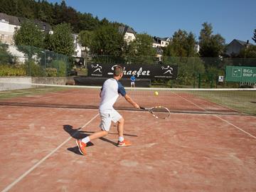
{"type": "MultiPolygon", "coordinates": [[[[154,96],[154,91],[149,90],[128,90],[132,98],[143,107],[154,107],[161,105],[169,108],[172,112],[199,112],[199,113],[221,113],[221,114],[236,114],[235,110],[228,107],[217,105],[201,97],[196,97],[192,94],[161,92],[158,97],[154,96]]],[[[160,91],[159,91],[160,92],[160,91]]],[[[0,106],[23,105],[23,106],[68,106],[68,107],[89,107],[97,108],[100,102],[100,88],[83,89],[71,88],[59,90],[56,92],[44,92],[42,95],[26,95],[24,97],[14,97],[9,100],[0,100],[0,106]]],[[[131,105],[120,99],[115,107],[132,108],[131,105]]]]}

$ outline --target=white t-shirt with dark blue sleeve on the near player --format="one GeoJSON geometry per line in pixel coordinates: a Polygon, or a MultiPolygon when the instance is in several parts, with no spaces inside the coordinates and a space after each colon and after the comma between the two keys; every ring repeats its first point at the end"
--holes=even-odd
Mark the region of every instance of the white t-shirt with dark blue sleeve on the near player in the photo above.
{"type": "Polygon", "coordinates": [[[117,101],[119,94],[121,94],[123,97],[127,94],[124,86],[122,86],[122,84],[114,78],[105,80],[100,94],[100,112],[110,112],[113,110],[113,105],[117,101]]]}

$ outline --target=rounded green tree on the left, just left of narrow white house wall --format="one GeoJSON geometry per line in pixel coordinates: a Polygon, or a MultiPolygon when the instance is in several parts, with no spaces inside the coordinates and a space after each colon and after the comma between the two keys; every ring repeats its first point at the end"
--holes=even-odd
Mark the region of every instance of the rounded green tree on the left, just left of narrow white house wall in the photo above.
{"type": "Polygon", "coordinates": [[[63,55],[73,55],[75,48],[73,45],[72,29],[70,24],[61,23],[53,28],[50,36],[50,45],[53,51],[63,55]]]}

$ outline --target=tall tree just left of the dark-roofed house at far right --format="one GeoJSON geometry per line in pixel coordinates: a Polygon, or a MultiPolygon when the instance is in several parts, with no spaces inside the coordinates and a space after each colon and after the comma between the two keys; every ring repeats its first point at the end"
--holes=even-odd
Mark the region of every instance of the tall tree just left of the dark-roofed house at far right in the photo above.
{"type": "Polygon", "coordinates": [[[213,26],[203,23],[199,36],[199,53],[202,58],[218,58],[223,54],[225,39],[220,34],[213,35],[213,26]]]}

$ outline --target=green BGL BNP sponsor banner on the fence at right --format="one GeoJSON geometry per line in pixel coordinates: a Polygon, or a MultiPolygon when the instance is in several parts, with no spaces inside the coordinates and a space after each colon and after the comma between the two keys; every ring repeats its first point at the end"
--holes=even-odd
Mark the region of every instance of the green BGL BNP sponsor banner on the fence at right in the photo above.
{"type": "Polygon", "coordinates": [[[227,66],[225,80],[231,82],[256,82],[256,68],[227,66]]]}

